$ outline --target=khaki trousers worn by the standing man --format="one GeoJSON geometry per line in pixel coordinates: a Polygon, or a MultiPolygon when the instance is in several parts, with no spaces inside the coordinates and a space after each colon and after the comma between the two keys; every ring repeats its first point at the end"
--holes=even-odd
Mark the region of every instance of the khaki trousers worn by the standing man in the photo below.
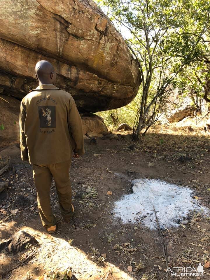
{"type": "Polygon", "coordinates": [[[46,228],[56,224],[56,217],[53,215],[50,205],[52,178],[55,180],[62,216],[67,221],[71,220],[73,216],[72,191],[69,178],[70,165],[71,160],[48,165],[33,164],[33,178],[37,190],[39,215],[43,226],[46,228]]]}

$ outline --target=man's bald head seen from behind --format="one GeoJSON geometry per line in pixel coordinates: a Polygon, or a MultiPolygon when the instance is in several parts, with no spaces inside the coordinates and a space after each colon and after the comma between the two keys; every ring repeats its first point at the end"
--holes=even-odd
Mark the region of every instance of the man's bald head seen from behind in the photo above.
{"type": "Polygon", "coordinates": [[[35,66],[36,78],[39,85],[54,84],[56,79],[55,68],[53,65],[46,61],[40,60],[35,66]]]}

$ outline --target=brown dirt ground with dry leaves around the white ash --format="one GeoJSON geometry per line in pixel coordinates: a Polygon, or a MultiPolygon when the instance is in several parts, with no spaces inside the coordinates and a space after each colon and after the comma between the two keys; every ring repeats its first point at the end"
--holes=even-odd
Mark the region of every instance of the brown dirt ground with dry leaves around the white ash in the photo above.
{"type": "MultiPolygon", "coordinates": [[[[137,178],[159,178],[189,186],[199,202],[210,208],[210,137],[199,130],[187,133],[184,128],[157,125],[130,150],[133,142],[129,132],[121,134],[118,141],[85,143],[85,155],[72,160],[75,215],[71,223],[65,223],[60,216],[53,183],[51,202],[58,218],[55,234],[46,233],[41,225],[31,166],[16,160],[16,183],[13,169],[1,175],[1,181],[13,183],[0,194],[0,242],[22,229],[39,241],[39,246],[16,255],[1,253],[1,279],[44,279],[41,276],[48,275],[48,270],[56,274],[68,266],[72,279],[78,280],[180,279],[166,272],[158,230],[149,230],[142,222],[122,224],[114,218],[113,208],[116,200],[132,191],[131,180],[137,178]],[[191,159],[180,160],[181,156],[191,159]],[[107,195],[108,191],[112,195],[107,195]],[[12,213],[20,195],[34,200],[29,207],[12,213]]],[[[186,219],[188,224],[162,231],[169,267],[197,267],[199,262],[204,265],[210,260],[210,218],[189,213],[186,219]]],[[[202,277],[210,279],[210,269],[204,269],[203,276],[183,279],[202,277]]]]}

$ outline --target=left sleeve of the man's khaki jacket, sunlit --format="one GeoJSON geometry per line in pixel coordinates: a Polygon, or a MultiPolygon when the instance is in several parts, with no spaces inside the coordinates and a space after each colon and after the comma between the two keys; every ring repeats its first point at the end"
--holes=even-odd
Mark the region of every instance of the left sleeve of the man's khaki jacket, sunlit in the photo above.
{"type": "Polygon", "coordinates": [[[20,150],[21,150],[21,158],[22,160],[28,160],[28,148],[26,145],[26,136],[24,132],[24,124],[26,118],[26,108],[23,101],[20,104],[20,150]]]}

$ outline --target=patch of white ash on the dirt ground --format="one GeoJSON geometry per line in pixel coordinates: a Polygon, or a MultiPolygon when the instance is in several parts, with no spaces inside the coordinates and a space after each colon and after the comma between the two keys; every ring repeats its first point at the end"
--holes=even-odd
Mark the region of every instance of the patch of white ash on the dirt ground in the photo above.
{"type": "Polygon", "coordinates": [[[190,211],[209,213],[209,209],[193,198],[193,190],[189,187],[154,179],[136,179],[132,183],[133,193],[115,202],[114,215],[121,218],[122,223],[141,223],[155,229],[153,204],[162,228],[177,227],[190,211]]]}

